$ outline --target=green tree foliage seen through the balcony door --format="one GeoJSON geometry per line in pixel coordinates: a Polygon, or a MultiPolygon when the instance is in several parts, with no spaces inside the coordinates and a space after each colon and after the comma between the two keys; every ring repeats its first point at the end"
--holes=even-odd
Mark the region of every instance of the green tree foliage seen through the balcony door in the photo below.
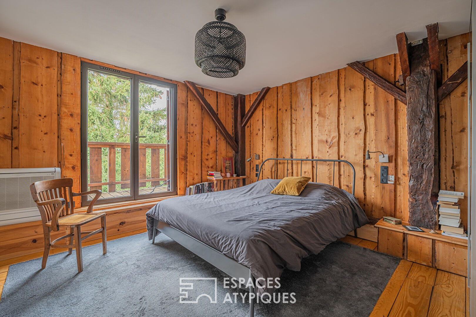
{"type": "MultiPolygon", "coordinates": [[[[88,70],[88,141],[130,142],[131,81],[88,70]]],[[[140,143],[167,142],[167,110],[154,109],[164,92],[158,86],[139,84],[140,143]]],[[[116,152],[116,181],[120,180],[120,150],[116,152]]],[[[102,149],[102,182],[108,181],[108,149],[102,149]]],[[[150,178],[150,150],[147,150],[147,178],[150,178]]],[[[161,158],[160,169],[163,169],[161,158]]],[[[88,153],[89,170],[89,153],[88,153]]],[[[89,176],[88,176],[89,182],[89,176]]],[[[150,183],[147,184],[150,186],[150,183]]],[[[102,186],[107,192],[108,186],[102,186]]],[[[120,190],[120,185],[117,185],[120,190]]]]}

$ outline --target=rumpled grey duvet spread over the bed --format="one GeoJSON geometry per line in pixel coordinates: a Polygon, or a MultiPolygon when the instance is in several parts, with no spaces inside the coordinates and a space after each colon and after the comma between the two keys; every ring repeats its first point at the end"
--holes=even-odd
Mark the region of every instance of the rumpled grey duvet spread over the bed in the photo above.
{"type": "Polygon", "coordinates": [[[163,200],[146,214],[149,240],[155,218],[247,266],[256,279],[275,279],[368,222],[344,190],[308,183],[299,196],[271,194],[279,181],[163,200]]]}

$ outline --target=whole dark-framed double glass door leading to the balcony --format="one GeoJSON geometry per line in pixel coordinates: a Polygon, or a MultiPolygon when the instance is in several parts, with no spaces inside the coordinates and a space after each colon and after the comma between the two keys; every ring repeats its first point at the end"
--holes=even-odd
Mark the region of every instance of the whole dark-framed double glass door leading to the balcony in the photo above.
{"type": "Polygon", "coordinates": [[[176,194],[176,110],[177,85],[83,62],[81,191],[101,190],[101,202],[176,194]]]}

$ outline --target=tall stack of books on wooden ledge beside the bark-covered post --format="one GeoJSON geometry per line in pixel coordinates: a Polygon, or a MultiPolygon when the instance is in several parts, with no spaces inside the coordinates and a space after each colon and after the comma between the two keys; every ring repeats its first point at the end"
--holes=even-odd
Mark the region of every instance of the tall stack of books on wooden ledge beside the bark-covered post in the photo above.
{"type": "Polygon", "coordinates": [[[438,193],[438,224],[441,234],[450,237],[468,239],[461,223],[461,214],[458,200],[465,197],[464,192],[450,192],[441,190],[438,193]]]}

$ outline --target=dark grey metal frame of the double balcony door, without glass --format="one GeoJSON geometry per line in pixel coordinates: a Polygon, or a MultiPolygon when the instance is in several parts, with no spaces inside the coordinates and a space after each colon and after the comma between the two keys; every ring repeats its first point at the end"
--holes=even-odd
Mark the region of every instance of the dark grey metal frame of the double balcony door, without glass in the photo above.
{"type": "MultiPolygon", "coordinates": [[[[161,81],[144,75],[136,75],[127,71],[104,67],[88,62],[81,62],[81,192],[88,191],[88,69],[106,75],[114,75],[127,78],[131,83],[130,96],[130,196],[104,198],[96,204],[111,202],[125,202],[140,199],[177,195],[177,84],[161,81]],[[169,169],[170,191],[139,195],[139,142],[135,142],[135,133],[139,133],[139,83],[149,83],[169,89],[169,169]]],[[[89,205],[87,196],[81,197],[81,206],[89,205]]]]}

